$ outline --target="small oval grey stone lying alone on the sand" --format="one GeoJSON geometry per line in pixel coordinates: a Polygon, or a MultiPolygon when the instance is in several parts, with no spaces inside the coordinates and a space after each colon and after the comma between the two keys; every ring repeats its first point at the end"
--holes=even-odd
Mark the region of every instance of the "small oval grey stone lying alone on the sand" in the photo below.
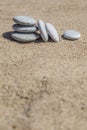
{"type": "Polygon", "coordinates": [[[75,30],[66,30],[63,34],[63,38],[68,40],[77,40],[81,37],[80,33],[75,30]]]}

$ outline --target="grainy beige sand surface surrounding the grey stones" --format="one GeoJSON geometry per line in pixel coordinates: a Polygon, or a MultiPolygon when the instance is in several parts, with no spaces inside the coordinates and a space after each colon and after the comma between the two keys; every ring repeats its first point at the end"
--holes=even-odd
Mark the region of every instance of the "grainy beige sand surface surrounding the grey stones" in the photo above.
{"type": "Polygon", "coordinates": [[[0,130],[14,129],[87,130],[87,0],[0,0],[0,130]],[[19,44],[15,15],[82,37],[19,44]]]}

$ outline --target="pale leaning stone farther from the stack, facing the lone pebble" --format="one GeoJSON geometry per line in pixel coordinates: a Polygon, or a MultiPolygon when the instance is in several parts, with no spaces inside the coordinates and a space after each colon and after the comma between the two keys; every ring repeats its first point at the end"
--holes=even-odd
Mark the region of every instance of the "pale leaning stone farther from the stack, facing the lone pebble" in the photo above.
{"type": "Polygon", "coordinates": [[[52,40],[55,41],[55,42],[58,42],[59,41],[59,35],[58,35],[55,27],[50,23],[46,23],[46,29],[47,29],[48,35],[52,38],[52,40]]]}

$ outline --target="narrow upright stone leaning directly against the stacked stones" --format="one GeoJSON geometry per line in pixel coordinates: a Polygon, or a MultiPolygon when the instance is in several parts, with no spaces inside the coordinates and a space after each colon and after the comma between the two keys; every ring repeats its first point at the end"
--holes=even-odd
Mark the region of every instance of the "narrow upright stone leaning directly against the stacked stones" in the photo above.
{"type": "Polygon", "coordinates": [[[40,35],[41,35],[43,41],[45,41],[45,42],[48,41],[48,34],[46,31],[45,23],[42,20],[39,20],[38,28],[40,30],[40,35]]]}

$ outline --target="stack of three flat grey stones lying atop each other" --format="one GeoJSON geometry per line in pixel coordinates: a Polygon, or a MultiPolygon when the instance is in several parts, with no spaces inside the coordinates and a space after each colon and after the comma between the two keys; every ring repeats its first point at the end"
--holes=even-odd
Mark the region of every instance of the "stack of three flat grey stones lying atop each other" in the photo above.
{"type": "Polygon", "coordinates": [[[37,21],[27,16],[15,16],[13,18],[16,24],[13,25],[14,33],[11,37],[19,42],[32,42],[37,40],[40,35],[36,33],[38,27],[37,21]]]}

